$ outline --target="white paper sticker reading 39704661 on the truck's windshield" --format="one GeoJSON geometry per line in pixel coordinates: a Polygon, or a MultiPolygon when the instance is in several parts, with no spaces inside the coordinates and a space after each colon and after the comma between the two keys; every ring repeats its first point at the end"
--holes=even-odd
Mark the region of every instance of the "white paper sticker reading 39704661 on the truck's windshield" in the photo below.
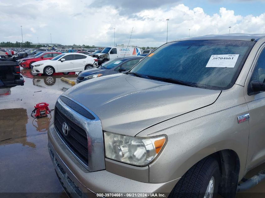
{"type": "Polygon", "coordinates": [[[239,54],[211,55],[206,67],[234,68],[239,54]]]}

